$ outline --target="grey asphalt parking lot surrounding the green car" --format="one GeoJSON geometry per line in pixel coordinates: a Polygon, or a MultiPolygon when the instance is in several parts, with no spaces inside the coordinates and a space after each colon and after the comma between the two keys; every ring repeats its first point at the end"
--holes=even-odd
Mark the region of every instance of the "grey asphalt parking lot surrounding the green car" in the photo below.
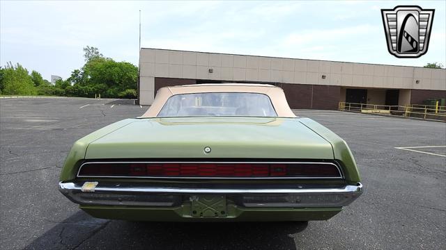
{"type": "Polygon", "coordinates": [[[1,249],[445,249],[446,123],[295,110],[351,147],[364,194],[326,222],[95,219],[57,190],[75,140],[147,107],[112,99],[0,99],[1,249]],[[411,149],[411,150],[407,150],[411,149]],[[415,150],[415,151],[414,151],[415,150]]]}

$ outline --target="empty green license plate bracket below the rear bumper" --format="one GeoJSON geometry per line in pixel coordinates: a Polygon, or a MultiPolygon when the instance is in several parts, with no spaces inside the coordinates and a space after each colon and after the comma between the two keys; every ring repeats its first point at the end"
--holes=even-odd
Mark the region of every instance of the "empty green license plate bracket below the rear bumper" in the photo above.
{"type": "Polygon", "coordinates": [[[226,196],[197,194],[190,197],[191,216],[203,218],[226,217],[226,196]]]}

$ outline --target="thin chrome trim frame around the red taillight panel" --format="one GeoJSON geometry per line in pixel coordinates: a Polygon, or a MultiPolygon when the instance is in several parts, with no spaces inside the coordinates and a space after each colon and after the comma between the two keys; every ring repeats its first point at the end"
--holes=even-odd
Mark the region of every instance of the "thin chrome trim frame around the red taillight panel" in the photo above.
{"type": "Polygon", "coordinates": [[[159,179],[236,179],[236,180],[252,180],[252,179],[268,179],[268,180],[284,180],[284,179],[343,179],[344,173],[341,171],[338,165],[334,163],[320,163],[320,162],[215,162],[215,161],[193,161],[193,162],[180,162],[180,161],[123,161],[123,162],[86,162],[82,163],[82,165],[79,167],[79,170],[77,171],[77,177],[86,177],[86,178],[159,178],[159,179]],[[337,168],[337,171],[339,172],[339,177],[276,177],[276,176],[266,176],[266,177],[203,177],[203,176],[197,176],[197,177],[188,177],[188,176],[86,176],[86,175],[79,175],[81,172],[82,167],[86,164],[105,164],[105,163],[228,163],[228,164],[238,164],[238,163],[252,163],[252,164],[321,164],[321,165],[334,165],[334,167],[337,168]]]}

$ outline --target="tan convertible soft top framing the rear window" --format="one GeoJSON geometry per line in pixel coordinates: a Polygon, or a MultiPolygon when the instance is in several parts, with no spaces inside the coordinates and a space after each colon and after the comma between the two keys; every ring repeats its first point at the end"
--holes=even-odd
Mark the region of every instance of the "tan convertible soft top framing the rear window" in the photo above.
{"type": "Polygon", "coordinates": [[[207,92],[242,92],[266,94],[271,99],[272,106],[278,117],[295,117],[288,102],[286,102],[284,90],[269,84],[248,83],[210,83],[194,85],[177,85],[160,88],[152,106],[141,117],[156,117],[169,97],[176,94],[194,94],[207,92]]]}

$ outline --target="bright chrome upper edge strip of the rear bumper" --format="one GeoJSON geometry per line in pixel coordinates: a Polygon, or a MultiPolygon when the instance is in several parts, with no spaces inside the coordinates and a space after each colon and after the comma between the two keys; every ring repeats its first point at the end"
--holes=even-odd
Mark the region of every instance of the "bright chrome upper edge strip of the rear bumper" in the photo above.
{"type": "MultiPolygon", "coordinates": [[[[59,190],[66,194],[67,192],[81,192],[82,185],[77,183],[59,183],[59,190]]],[[[156,194],[361,194],[362,184],[346,185],[343,188],[302,188],[296,185],[296,188],[290,189],[213,189],[213,188],[155,188],[155,187],[101,187],[98,185],[94,192],[137,192],[137,193],[156,193],[156,194]]],[[[85,193],[85,192],[84,192],[85,193]]]]}

